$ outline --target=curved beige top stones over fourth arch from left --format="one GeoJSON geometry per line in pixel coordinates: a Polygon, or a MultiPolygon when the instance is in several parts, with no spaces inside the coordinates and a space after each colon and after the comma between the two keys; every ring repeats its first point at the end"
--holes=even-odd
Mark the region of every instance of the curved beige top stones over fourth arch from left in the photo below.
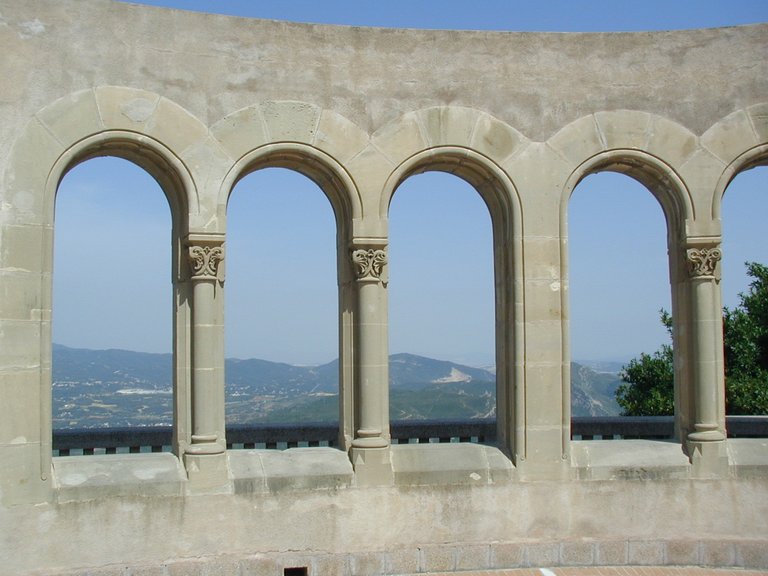
{"type": "Polygon", "coordinates": [[[696,135],[663,116],[612,110],[583,116],[564,126],[547,145],[573,167],[607,150],[642,150],[670,166],[682,166],[697,150],[696,135]]]}

